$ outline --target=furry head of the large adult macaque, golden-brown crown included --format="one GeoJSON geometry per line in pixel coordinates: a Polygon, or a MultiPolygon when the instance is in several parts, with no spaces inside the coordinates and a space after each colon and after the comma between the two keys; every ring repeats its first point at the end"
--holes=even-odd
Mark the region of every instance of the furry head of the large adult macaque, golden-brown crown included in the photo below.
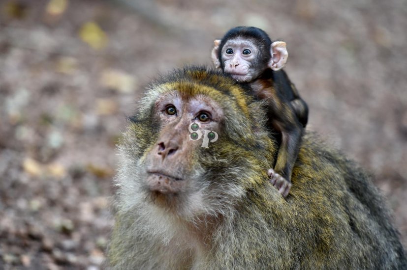
{"type": "Polygon", "coordinates": [[[152,85],[120,146],[123,204],[131,208],[151,198],[159,209],[194,219],[222,213],[251,186],[265,184],[275,145],[261,103],[243,87],[196,67],[152,85]],[[199,139],[192,123],[200,125],[199,139]],[[210,132],[218,139],[202,147],[210,132]]]}

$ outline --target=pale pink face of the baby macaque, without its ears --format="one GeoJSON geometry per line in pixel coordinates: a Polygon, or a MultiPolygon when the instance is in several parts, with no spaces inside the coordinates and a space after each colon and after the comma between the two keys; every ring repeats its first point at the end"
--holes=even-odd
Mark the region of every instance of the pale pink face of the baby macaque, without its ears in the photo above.
{"type": "Polygon", "coordinates": [[[239,82],[250,82],[267,68],[257,46],[243,38],[230,39],[224,44],[221,62],[224,72],[239,82]]]}

